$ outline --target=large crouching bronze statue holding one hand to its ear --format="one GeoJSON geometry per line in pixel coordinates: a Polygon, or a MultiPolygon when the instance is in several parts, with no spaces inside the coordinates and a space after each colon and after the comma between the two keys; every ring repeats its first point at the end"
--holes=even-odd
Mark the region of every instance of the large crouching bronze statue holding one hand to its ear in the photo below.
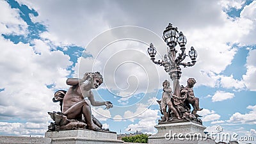
{"type": "Polygon", "coordinates": [[[92,89],[96,89],[103,83],[103,77],[99,72],[86,72],[82,79],[68,78],[66,83],[70,85],[67,93],[60,90],[54,93],[54,102],[60,101],[61,112],[50,113],[55,122],[49,125],[49,131],[86,128],[94,131],[102,129],[102,124],[97,120],[91,111],[92,106],[106,106],[112,108],[111,102],[95,101],[92,89]],[[88,81],[88,83],[84,83],[88,81]],[[88,97],[88,101],[84,98],[88,97]],[[62,103],[62,104],[61,104],[62,103]],[[55,129],[54,129],[55,127],[55,129]]]}

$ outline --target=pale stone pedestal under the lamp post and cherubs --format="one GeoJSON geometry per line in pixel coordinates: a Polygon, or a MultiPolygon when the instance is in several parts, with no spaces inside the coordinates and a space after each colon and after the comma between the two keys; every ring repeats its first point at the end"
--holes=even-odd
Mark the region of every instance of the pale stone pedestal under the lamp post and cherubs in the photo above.
{"type": "Polygon", "coordinates": [[[164,144],[215,144],[209,136],[204,134],[206,127],[193,122],[166,123],[155,126],[157,133],[148,137],[148,143],[164,144]]]}

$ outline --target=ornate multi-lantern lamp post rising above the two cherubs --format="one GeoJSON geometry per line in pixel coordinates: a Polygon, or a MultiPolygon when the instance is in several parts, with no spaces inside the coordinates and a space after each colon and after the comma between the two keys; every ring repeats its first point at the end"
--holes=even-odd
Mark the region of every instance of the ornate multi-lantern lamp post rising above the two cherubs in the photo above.
{"type": "Polygon", "coordinates": [[[177,95],[180,97],[180,84],[179,79],[181,76],[181,68],[180,65],[184,67],[192,67],[196,63],[197,52],[194,47],[191,47],[189,51],[189,57],[191,62],[184,63],[182,61],[185,60],[186,56],[186,43],[187,38],[183,35],[182,31],[178,31],[178,28],[174,28],[171,23],[166,27],[163,31],[163,40],[168,45],[167,54],[164,54],[163,60],[155,61],[156,58],[156,48],[151,43],[150,47],[148,47],[148,54],[150,59],[156,64],[164,67],[164,70],[170,75],[173,81],[173,95],[177,95]],[[179,44],[180,53],[177,54],[177,49],[175,47],[179,44]]]}

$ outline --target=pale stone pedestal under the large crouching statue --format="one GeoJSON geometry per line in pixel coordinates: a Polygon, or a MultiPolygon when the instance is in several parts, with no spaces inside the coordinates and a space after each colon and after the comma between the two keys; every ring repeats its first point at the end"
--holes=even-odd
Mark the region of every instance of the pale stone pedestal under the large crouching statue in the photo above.
{"type": "Polygon", "coordinates": [[[46,132],[45,138],[51,138],[51,144],[104,144],[104,143],[124,143],[117,140],[116,133],[99,132],[89,130],[69,130],[46,132]]]}

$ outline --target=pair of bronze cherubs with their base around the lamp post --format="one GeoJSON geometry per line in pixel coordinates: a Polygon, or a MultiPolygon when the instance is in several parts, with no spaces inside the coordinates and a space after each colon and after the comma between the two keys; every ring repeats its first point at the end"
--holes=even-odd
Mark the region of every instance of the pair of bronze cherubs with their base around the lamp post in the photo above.
{"type": "Polygon", "coordinates": [[[184,119],[189,121],[193,120],[202,124],[202,120],[198,118],[200,116],[196,114],[197,111],[202,110],[202,108],[199,108],[199,99],[195,97],[193,92],[193,86],[196,81],[194,78],[189,78],[187,83],[188,85],[186,87],[181,86],[181,95],[179,97],[172,94],[172,88],[170,88],[169,81],[165,80],[163,82],[163,96],[161,100],[157,100],[160,106],[160,111],[163,114],[159,122],[184,119]],[[194,108],[192,113],[189,104],[194,108]]]}

